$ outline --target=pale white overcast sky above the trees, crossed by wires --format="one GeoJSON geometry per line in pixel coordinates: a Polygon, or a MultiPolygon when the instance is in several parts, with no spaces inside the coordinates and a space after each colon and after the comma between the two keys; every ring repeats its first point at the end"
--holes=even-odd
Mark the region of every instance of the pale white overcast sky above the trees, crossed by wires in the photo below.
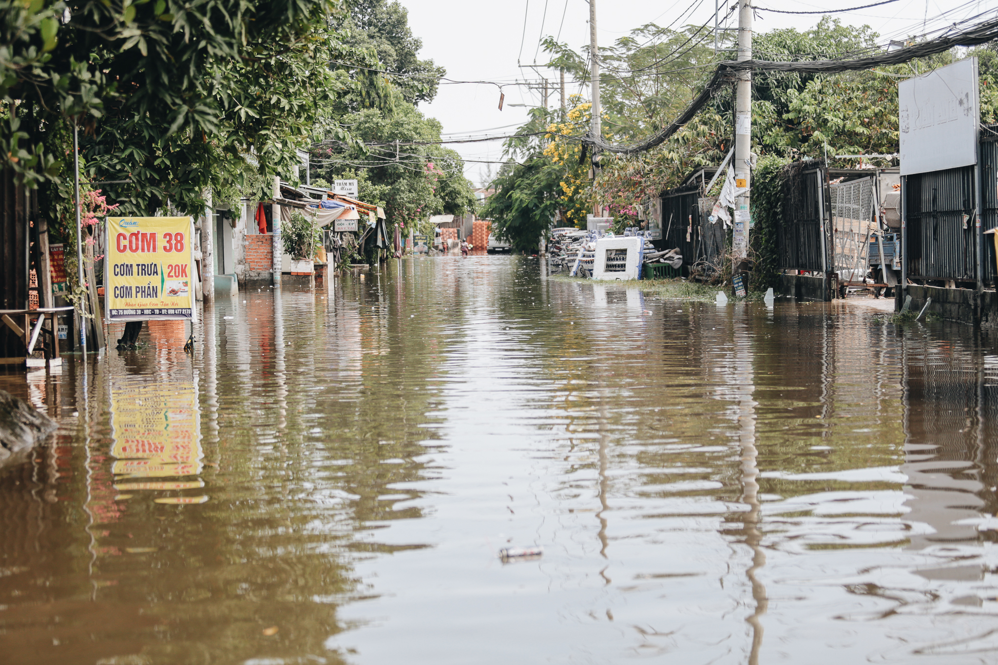
{"type": "MultiPolygon", "coordinates": [[[[720,1],[720,0],[719,0],[720,1]]],[[[759,7],[792,11],[845,9],[872,4],[878,0],[757,0],[759,7]]],[[[586,0],[513,0],[490,4],[457,2],[455,0],[399,0],[409,10],[409,25],[414,35],[423,40],[421,58],[432,58],[447,69],[447,78],[461,81],[494,81],[513,83],[525,78],[537,79],[522,65],[544,63],[545,54],[538,49],[542,36],[560,35],[559,41],[579,48],[589,44],[589,4],[586,0]],[[564,18],[563,18],[564,17],[564,18]],[[522,46],[521,46],[522,44],[522,46]]],[[[722,14],[726,4],[722,1],[722,14]]],[[[981,12],[998,9],[998,0],[961,2],[961,0],[895,0],[879,7],[835,14],[847,25],[869,25],[886,43],[890,38],[933,30],[943,24],[975,16],[981,12]],[[943,12],[945,17],[939,19],[943,12]]],[[[990,17],[993,17],[992,13],[990,17]]],[[[597,43],[613,44],[632,29],[656,23],[667,26],[677,21],[677,26],[714,23],[714,0],[676,0],[651,2],[607,2],[597,0],[597,43]],[[699,4],[698,4],[699,1],[699,4]]],[[[820,20],[820,15],[790,15],[759,11],[753,30],[756,33],[775,28],[796,27],[806,29],[820,20]]],[[[735,22],[730,23],[734,26],[735,22]]],[[[547,72],[552,86],[557,86],[558,73],[547,72]]],[[[588,88],[579,82],[566,82],[568,94],[580,89],[588,99],[588,88]]],[[[467,135],[497,135],[515,131],[526,122],[527,109],[511,106],[527,104],[539,106],[540,94],[531,93],[523,86],[504,88],[506,100],[503,111],[498,110],[499,89],[488,84],[441,85],[435,100],[422,104],[420,109],[443,125],[447,138],[467,135]]],[[[559,102],[557,88],[548,98],[549,106],[559,102]]],[[[502,142],[455,144],[454,150],[468,161],[465,175],[479,184],[489,165],[472,161],[499,161],[502,159],[502,142]]],[[[493,168],[498,165],[492,165],[493,168]]]]}

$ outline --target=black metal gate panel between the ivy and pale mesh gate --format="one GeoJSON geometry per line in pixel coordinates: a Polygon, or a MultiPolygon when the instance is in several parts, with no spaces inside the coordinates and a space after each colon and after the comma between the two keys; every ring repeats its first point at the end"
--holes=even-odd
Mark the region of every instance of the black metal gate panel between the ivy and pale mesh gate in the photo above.
{"type": "Polygon", "coordinates": [[[790,167],[784,183],[786,203],[776,242],[777,267],[823,272],[831,263],[831,238],[822,223],[824,170],[799,165],[790,167]]]}

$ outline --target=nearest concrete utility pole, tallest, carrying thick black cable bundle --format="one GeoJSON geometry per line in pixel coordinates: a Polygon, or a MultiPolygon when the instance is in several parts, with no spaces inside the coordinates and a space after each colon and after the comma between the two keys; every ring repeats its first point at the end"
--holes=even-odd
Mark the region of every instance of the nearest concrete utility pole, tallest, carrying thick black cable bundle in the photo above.
{"type": "MultiPolygon", "coordinates": [[[[739,61],[751,60],[751,2],[739,0],[739,61]]],[[[739,72],[735,104],[735,186],[749,186],[751,157],[751,72],[739,72]]],[[[749,252],[749,192],[735,200],[735,231],[732,240],[735,261],[749,252]]],[[[732,266],[732,274],[738,265],[732,266]]]]}

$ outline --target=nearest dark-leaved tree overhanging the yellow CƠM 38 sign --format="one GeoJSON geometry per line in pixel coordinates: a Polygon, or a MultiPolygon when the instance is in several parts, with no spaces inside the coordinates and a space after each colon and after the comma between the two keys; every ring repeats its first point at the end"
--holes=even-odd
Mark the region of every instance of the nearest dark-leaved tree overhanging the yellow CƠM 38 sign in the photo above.
{"type": "Polygon", "coordinates": [[[352,141],[338,100],[389,97],[374,49],[332,28],[339,11],[329,0],[0,3],[4,157],[49,189],[43,200],[65,200],[72,120],[85,172],[111,180],[123,212],[266,194],[316,127],[352,141]]]}

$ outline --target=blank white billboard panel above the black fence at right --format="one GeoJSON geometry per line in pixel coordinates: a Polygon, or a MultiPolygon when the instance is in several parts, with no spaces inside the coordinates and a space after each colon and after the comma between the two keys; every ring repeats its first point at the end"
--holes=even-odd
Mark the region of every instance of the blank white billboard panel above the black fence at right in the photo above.
{"type": "Polygon", "coordinates": [[[897,86],[901,175],[977,164],[977,58],[897,86]]]}

